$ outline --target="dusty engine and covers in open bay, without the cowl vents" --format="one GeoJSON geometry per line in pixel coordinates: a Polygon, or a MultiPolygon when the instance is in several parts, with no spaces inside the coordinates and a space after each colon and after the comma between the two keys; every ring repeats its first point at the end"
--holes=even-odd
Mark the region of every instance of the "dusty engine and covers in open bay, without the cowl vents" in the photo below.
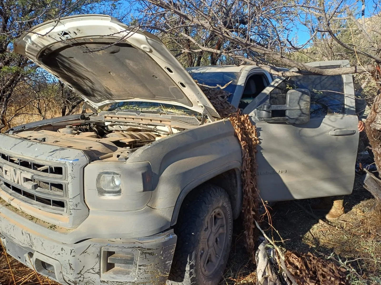
{"type": "Polygon", "coordinates": [[[121,160],[135,149],[178,131],[155,125],[133,127],[122,123],[88,122],[63,126],[51,124],[38,130],[25,130],[9,135],[81,149],[91,160],[121,160]]]}

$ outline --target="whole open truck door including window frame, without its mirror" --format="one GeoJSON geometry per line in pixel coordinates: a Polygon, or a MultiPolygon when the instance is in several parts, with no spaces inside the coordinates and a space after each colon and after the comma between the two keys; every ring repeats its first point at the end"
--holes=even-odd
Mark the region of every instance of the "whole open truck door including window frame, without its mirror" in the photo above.
{"type": "MultiPolygon", "coordinates": [[[[348,64],[347,61],[309,63],[320,68],[348,64]]],[[[354,100],[346,100],[346,97],[354,98],[350,74],[277,78],[244,109],[258,128],[258,189],[264,200],[304,199],[352,192],[359,120],[352,112],[354,100]],[[287,91],[294,88],[309,89],[311,93],[309,123],[266,123],[256,117],[258,106],[269,102],[282,105],[287,91]]]]}

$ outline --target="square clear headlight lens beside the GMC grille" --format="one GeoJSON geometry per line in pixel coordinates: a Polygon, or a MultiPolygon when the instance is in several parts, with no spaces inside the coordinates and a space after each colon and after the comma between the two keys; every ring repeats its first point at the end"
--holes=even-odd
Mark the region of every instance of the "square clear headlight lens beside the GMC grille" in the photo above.
{"type": "Polygon", "coordinates": [[[104,171],[98,173],[96,179],[96,189],[99,196],[120,196],[122,195],[122,179],[120,173],[104,171]]]}

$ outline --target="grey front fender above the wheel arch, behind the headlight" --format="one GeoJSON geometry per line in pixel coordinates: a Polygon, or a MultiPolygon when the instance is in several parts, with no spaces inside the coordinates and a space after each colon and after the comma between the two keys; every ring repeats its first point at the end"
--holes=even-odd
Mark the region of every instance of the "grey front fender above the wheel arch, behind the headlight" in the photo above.
{"type": "Polygon", "coordinates": [[[144,160],[152,166],[148,206],[165,209],[216,175],[240,169],[242,152],[231,122],[219,120],[160,139],[129,157],[131,162],[144,160]]]}

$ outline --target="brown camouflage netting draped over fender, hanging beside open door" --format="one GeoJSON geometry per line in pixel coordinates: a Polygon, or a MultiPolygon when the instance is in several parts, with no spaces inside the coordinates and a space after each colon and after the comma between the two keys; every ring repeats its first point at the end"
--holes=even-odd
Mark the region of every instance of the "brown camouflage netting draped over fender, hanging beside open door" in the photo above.
{"type": "Polygon", "coordinates": [[[200,86],[218,114],[223,119],[229,119],[234,127],[235,135],[240,141],[242,149],[242,185],[245,237],[247,250],[251,260],[255,262],[256,228],[254,220],[258,220],[259,191],[256,183],[255,152],[259,142],[256,127],[251,123],[248,115],[243,115],[227,101],[231,95],[219,88],[200,86]]]}

